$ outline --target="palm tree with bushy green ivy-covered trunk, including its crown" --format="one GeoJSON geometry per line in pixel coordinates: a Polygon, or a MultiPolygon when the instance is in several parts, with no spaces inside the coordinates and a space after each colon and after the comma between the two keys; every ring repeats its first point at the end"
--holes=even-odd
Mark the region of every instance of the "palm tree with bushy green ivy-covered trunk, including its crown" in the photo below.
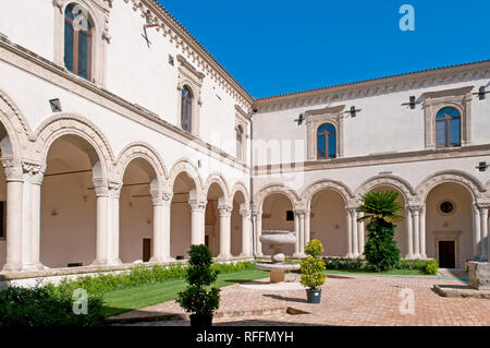
{"type": "Polygon", "coordinates": [[[400,250],[394,241],[396,223],[404,219],[396,214],[403,205],[396,201],[395,191],[369,192],[363,196],[359,212],[364,217],[358,221],[368,221],[368,241],[364,254],[370,267],[376,272],[396,268],[400,265],[400,250]]]}

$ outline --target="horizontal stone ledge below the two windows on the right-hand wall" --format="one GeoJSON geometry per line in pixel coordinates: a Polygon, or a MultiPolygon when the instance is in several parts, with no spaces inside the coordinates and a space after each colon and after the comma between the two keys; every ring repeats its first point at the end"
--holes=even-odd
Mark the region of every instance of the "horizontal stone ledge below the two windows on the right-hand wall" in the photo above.
{"type": "Polygon", "coordinates": [[[327,169],[382,166],[404,163],[452,159],[464,157],[479,157],[490,155],[490,144],[473,145],[461,148],[437,148],[416,152],[367,155],[356,157],[341,157],[324,160],[310,160],[304,163],[289,163],[278,165],[255,166],[254,176],[285,173],[295,171],[315,171],[327,169]]]}

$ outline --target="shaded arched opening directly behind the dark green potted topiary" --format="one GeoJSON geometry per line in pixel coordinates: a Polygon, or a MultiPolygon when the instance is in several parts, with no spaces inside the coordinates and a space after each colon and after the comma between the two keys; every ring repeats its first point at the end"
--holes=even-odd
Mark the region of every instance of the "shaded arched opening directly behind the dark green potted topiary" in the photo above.
{"type": "Polygon", "coordinates": [[[171,206],[170,255],[176,260],[187,259],[192,242],[192,211],[189,200],[196,197],[196,183],[187,172],[176,176],[173,183],[171,206]]]}

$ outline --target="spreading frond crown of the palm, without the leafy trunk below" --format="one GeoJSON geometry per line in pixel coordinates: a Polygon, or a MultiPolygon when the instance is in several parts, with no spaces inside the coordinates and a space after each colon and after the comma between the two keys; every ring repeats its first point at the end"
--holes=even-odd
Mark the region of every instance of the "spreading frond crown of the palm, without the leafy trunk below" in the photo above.
{"type": "Polygon", "coordinates": [[[365,215],[358,218],[358,221],[371,223],[376,219],[382,219],[387,223],[400,223],[404,219],[396,213],[403,211],[403,205],[396,202],[399,194],[395,191],[369,192],[363,196],[363,205],[359,212],[365,215]]]}

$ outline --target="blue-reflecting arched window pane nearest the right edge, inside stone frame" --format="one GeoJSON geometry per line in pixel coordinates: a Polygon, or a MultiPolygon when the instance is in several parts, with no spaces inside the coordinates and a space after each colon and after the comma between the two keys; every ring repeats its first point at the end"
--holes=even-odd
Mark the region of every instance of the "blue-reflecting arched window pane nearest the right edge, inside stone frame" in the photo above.
{"type": "Polygon", "coordinates": [[[461,115],[455,108],[443,108],[436,116],[436,145],[461,146],[461,115]]]}

